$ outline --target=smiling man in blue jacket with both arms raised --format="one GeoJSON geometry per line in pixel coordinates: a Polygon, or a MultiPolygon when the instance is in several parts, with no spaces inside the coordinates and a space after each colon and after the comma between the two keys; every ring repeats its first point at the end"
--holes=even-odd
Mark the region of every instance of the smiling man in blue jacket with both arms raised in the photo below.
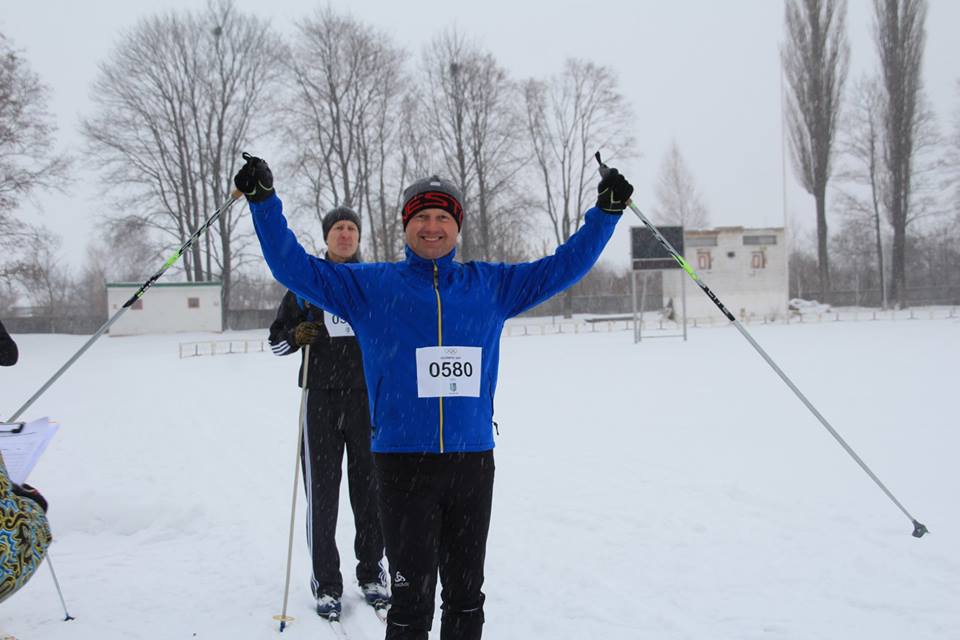
{"type": "Polygon", "coordinates": [[[454,256],[463,199],[432,176],[403,194],[406,260],[335,264],[304,251],[267,163],[244,159],[234,182],[274,277],[349,322],[363,352],[392,580],[386,638],[427,639],[439,571],[441,640],[479,639],[503,324],[586,275],[633,187],[610,170],[584,226],[552,256],[461,264],[454,256]]]}

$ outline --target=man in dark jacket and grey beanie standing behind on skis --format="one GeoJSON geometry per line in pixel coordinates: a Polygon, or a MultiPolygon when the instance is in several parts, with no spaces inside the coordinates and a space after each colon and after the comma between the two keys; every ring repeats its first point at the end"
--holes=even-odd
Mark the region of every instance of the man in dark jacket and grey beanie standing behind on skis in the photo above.
{"type": "MultiPolygon", "coordinates": [[[[338,207],[328,212],[323,218],[323,237],[327,260],[359,262],[360,218],[351,209],[338,207]]],[[[357,582],[367,603],[382,608],[388,603],[388,596],[380,571],[383,537],[370,454],[370,411],[360,347],[353,329],[343,319],[288,291],[270,327],[270,345],[281,356],[310,345],[301,461],[310,510],[310,586],[317,600],[317,613],[337,618],[341,611],[343,578],[335,533],[344,449],[356,525],[357,582]]],[[[301,363],[301,386],[302,374],[301,363]]]]}

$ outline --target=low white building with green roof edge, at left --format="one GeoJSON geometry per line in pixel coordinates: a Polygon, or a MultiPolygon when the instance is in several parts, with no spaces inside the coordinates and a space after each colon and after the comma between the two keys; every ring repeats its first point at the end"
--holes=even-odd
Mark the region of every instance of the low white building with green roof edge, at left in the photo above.
{"type": "MultiPolygon", "coordinates": [[[[142,283],[108,282],[107,306],[112,317],[142,283]]],[[[219,282],[155,283],[111,327],[110,335],[182,331],[223,331],[223,285],[219,282]]]]}

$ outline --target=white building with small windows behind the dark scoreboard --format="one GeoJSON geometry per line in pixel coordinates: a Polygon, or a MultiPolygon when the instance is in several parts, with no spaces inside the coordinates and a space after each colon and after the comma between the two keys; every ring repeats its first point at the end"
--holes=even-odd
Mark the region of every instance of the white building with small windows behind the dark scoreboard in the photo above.
{"type": "MultiPolygon", "coordinates": [[[[762,318],[787,312],[787,247],[783,227],[718,227],[685,231],[683,257],[733,315],[762,318]]],[[[687,317],[721,317],[719,309],[680,269],[663,274],[663,301],[681,313],[680,279],[687,278],[687,317]]]]}

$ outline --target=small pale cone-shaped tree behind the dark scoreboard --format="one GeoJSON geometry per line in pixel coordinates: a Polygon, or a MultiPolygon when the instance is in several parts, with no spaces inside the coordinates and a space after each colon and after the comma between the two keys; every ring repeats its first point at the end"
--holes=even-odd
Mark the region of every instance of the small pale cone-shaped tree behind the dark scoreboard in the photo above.
{"type": "Polygon", "coordinates": [[[653,214],[661,224],[680,225],[685,229],[705,229],[710,225],[710,213],[676,140],[663,156],[655,193],[657,204],[653,214]]]}

